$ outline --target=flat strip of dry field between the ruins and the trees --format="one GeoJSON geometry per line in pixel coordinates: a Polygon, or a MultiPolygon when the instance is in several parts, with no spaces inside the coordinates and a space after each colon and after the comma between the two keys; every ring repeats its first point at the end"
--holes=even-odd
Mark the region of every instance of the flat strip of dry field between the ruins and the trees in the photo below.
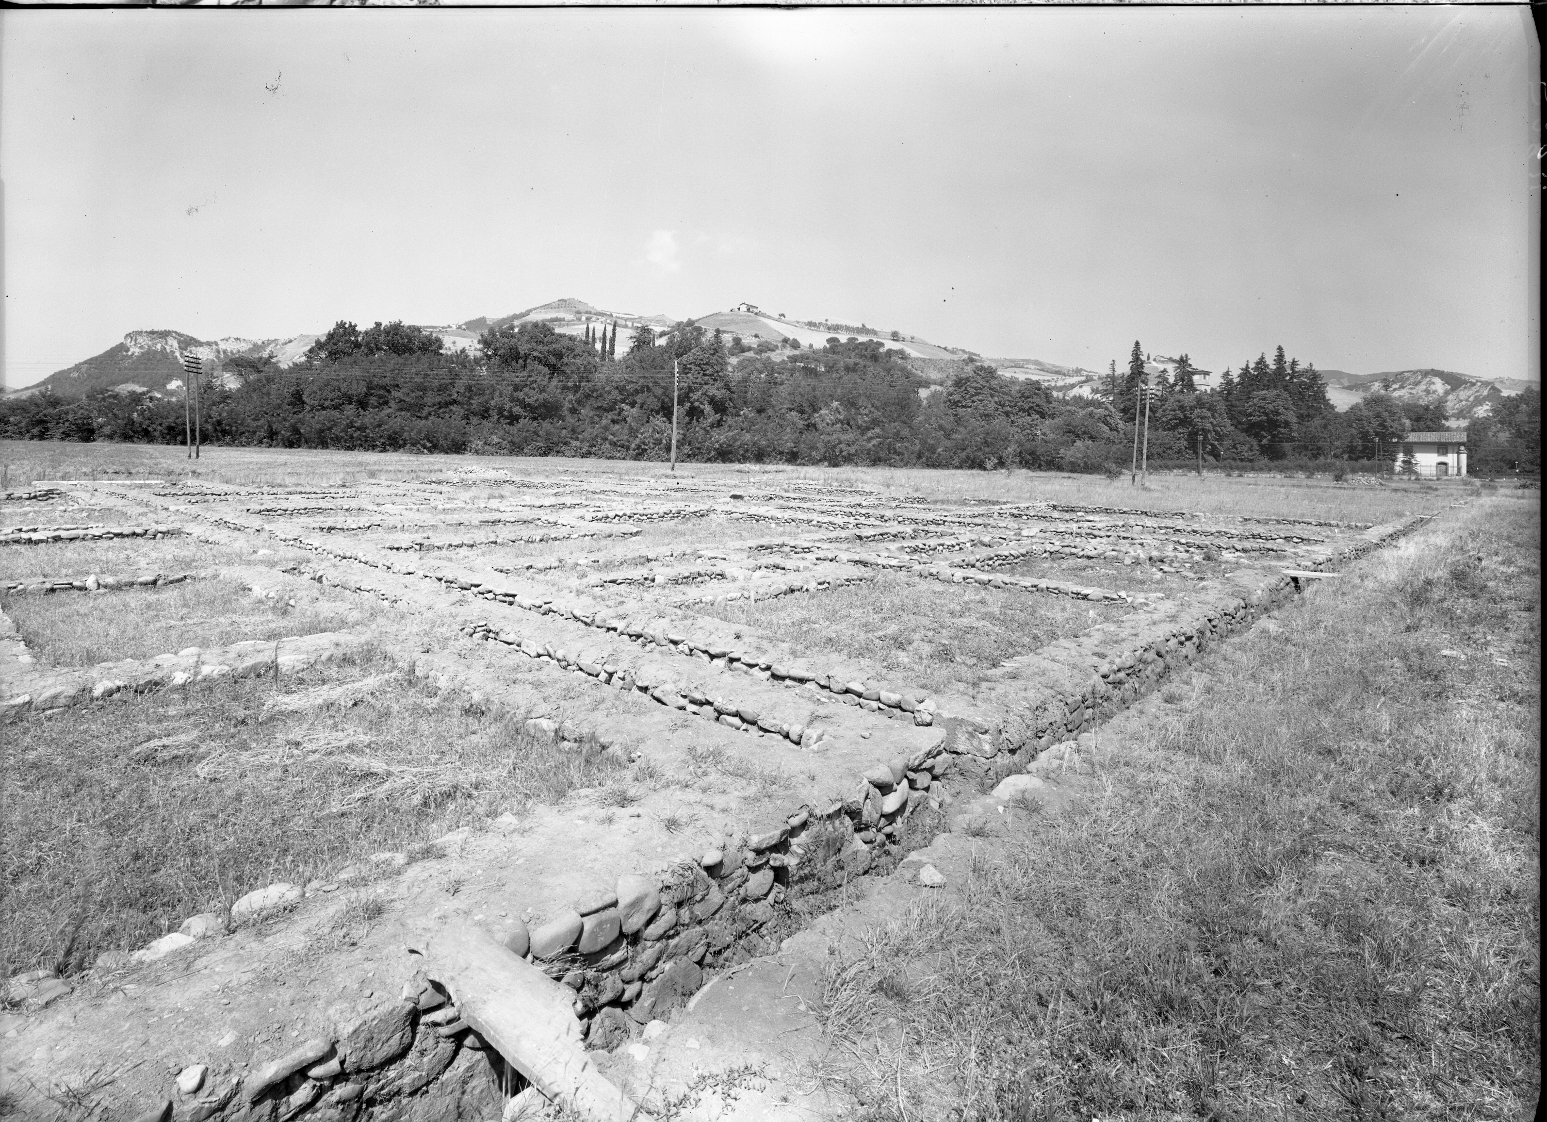
{"type": "MultiPolygon", "coordinates": [[[[883,497],[925,495],[931,500],[1047,500],[1156,511],[1199,511],[1219,515],[1329,518],[1337,522],[1394,522],[1423,514],[1484,487],[1470,480],[1445,483],[1338,484],[1332,480],[1272,480],[1208,475],[1153,475],[1148,487],[1134,487],[1125,475],[1054,472],[972,472],[866,467],[783,467],[747,464],[682,464],[676,474],[661,463],[521,457],[421,457],[405,453],[326,452],[300,449],[204,449],[189,461],[183,449],[153,444],[54,444],[0,441],[6,486],[19,489],[50,478],[164,478],[209,480],[231,484],[330,486],[370,478],[427,480],[449,472],[518,470],[548,477],[600,481],[650,477],[662,483],[695,478],[744,480],[747,487],[787,486],[791,481],[865,487],[883,497]]],[[[693,501],[684,495],[684,501],[693,501]]]]}

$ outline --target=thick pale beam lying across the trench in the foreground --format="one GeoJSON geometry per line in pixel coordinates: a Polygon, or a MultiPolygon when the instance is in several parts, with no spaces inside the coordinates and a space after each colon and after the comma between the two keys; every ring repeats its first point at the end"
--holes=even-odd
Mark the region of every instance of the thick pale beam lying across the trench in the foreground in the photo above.
{"type": "Polygon", "coordinates": [[[425,975],[446,986],[463,1020],[546,1099],[586,1122],[650,1117],[586,1055],[572,989],[476,929],[436,932],[424,958],[425,975]]]}

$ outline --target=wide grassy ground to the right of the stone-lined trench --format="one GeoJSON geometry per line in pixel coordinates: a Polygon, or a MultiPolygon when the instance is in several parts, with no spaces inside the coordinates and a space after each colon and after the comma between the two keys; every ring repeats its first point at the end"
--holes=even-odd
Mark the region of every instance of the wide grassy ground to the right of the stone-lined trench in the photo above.
{"type": "Polygon", "coordinates": [[[1530,1117],[1539,576],[1535,497],[1474,505],[1118,718],[832,969],[859,1117],[1530,1117]]]}

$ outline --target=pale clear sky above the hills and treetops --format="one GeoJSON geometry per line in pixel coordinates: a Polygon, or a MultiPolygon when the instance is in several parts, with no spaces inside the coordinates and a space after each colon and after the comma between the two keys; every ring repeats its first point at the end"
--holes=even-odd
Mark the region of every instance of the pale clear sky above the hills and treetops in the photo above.
{"type": "Polygon", "coordinates": [[[1519,8],[11,9],[6,385],[566,296],[1539,378],[1538,70],[1519,8]]]}

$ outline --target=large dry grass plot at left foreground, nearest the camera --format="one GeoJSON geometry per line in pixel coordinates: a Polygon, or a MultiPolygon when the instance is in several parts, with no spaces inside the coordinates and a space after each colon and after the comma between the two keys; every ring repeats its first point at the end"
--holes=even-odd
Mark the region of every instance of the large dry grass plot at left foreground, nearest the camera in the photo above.
{"type": "Polygon", "coordinates": [[[625,768],[591,743],[534,740],[523,713],[438,693],[376,655],[282,679],[280,696],[371,673],[390,676],[261,721],[274,684],[220,679],[8,726],[0,977],[77,970],[252,888],[407,851],[625,768]]]}

